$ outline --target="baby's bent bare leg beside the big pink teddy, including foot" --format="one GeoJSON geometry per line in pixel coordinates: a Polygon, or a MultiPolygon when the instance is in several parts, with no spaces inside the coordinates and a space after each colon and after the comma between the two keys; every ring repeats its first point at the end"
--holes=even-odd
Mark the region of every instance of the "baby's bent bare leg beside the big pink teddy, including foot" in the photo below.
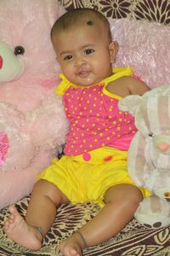
{"type": "Polygon", "coordinates": [[[3,230],[21,246],[38,250],[42,246],[42,237],[54,222],[56,206],[65,202],[68,202],[67,198],[53,183],[39,180],[32,191],[26,220],[15,207],[9,207],[10,216],[3,230]]]}

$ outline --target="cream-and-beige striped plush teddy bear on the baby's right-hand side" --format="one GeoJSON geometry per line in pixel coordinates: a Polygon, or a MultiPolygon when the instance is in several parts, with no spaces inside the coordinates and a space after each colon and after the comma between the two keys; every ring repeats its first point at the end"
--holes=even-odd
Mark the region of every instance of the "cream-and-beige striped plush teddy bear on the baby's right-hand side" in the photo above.
{"type": "Polygon", "coordinates": [[[133,114],[139,131],[128,150],[128,170],[133,181],[150,189],[135,212],[141,224],[153,228],[170,224],[170,84],[119,102],[133,114]]]}

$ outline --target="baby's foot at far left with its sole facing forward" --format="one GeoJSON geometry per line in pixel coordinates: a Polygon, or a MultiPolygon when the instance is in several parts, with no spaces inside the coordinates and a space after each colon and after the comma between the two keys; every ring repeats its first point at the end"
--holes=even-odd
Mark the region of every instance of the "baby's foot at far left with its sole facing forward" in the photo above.
{"type": "Polygon", "coordinates": [[[26,223],[14,206],[8,207],[8,210],[11,214],[3,225],[7,236],[20,246],[31,250],[38,250],[42,247],[42,235],[33,226],[26,223]]]}

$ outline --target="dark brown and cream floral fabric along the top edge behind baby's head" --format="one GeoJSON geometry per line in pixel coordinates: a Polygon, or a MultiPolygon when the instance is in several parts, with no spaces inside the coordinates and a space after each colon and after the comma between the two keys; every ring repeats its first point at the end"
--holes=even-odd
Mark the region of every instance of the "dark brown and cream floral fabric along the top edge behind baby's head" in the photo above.
{"type": "Polygon", "coordinates": [[[132,18],[170,24],[170,0],[59,0],[65,9],[94,8],[112,19],[132,18]]]}

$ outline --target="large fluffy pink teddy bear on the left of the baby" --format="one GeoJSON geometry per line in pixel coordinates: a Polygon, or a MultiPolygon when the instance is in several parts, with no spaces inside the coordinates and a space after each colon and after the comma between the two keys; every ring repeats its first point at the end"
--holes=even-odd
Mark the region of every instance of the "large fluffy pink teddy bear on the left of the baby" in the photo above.
{"type": "Polygon", "coordinates": [[[55,0],[1,0],[0,5],[2,208],[31,192],[36,174],[65,143],[68,124],[54,94],[59,65],[49,36],[64,10],[55,0]]]}

